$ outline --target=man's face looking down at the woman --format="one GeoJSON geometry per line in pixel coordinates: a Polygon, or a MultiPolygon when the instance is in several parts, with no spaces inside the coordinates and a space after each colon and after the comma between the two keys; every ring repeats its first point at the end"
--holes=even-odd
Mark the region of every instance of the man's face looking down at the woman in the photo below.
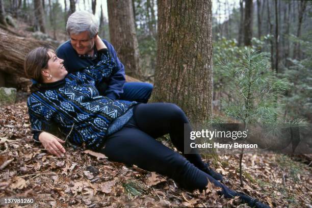
{"type": "Polygon", "coordinates": [[[79,34],[70,34],[70,43],[77,52],[77,54],[80,55],[92,55],[94,40],[95,38],[90,38],[90,34],[88,31],[79,34]]]}

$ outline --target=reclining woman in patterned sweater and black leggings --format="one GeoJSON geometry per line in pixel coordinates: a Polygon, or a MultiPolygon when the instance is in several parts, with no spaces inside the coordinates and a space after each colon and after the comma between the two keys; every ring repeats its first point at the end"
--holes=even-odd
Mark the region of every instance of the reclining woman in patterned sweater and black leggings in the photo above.
{"type": "Polygon", "coordinates": [[[199,154],[183,157],[155,141],[170,134],[174,146],[183,152],[184,124],[191,127],[176,105],[100,96],[95,85],[110,75],[116,63],[99,37],[95,45],[101,61],[74,74],[67,74],[63,60],[48,48],[36,48],[26,57],[25,73],[38,82],[28,98],[35,140],[52,154],[65,153],[64,141],[47,133],[57,123],[71,143],[102,152],[109,160],[166,175],[187,190],[203,190],[211,181],[227,198],[240,196],[251,206],[268,207],[221,184],[222,176],[203,163],[199,154]]]}

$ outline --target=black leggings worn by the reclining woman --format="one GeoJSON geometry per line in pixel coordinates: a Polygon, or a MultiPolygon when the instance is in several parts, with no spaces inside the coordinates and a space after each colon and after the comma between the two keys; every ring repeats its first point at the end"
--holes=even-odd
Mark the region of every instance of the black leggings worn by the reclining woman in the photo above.
{"type": "MultiPolygon", "coordinates": [[[[199,154],[185,154],[166,147],[155,140],[170,134],[174,146],[184,150],[184,124],[189,123],[185,113],[172,103],[139,104],[134,116],[124,127],[109,136],[100,150],[109,160],[137,165],[138,167],[166,175],[187,189],[202,190],[208,181],[222,188],[221,193],[231,198],[238,193],[201,171],[204,163],[199,154]]],[[[190,125],[187,127],[191,128],[190,125]]]]}

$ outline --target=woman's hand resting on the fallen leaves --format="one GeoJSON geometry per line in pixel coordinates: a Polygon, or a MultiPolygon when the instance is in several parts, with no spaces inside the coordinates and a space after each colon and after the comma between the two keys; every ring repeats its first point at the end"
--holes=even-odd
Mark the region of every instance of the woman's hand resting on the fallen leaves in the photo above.
{"type": "Polygon", "coordinates": [[[42,132],[39,135],[39,141],[42,143],[47,152],[54,154],[57,157],[63,156],[63,153],[66,152],[65,148],[62,146],[65,141],[47,132],[42,132]]]}

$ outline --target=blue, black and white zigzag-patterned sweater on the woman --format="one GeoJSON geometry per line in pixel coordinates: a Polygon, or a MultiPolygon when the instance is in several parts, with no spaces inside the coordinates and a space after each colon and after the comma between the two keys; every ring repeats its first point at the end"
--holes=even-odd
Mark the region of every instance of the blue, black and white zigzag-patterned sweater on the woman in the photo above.
{"type": "Polygon", "coordinates": [[[38,84],[39,90],[29,96],[27,105],[35,140],[56,124],[64,135],[69,135],[71,143],[78,146],[85,143],[93,150],[100,148],[109,126],[136,105],[137,102],[99,95],[95,85],[110,76],[116,62],[107,49],[98,52],[103,58],[96,65],[68,74],[61,81],[38,84]]]}

